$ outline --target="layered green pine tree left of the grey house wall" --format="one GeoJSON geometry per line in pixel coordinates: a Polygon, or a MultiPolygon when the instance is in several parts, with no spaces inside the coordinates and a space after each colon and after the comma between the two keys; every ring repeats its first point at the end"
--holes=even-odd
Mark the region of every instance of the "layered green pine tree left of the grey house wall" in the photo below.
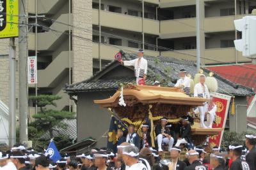
{"type": "MultiPolygon", "coordinates": [[[[33,146],[35,148],[40,148],[42,150],[47,148],[49,141],[40,140],[41,136],[49,131],[50,137],[53,138],[53,132],[58,132],[58,129],[55,129],[55,127],[67,129],[67,124],[61,121],[64,119],[75,118],[75,113],[49,109],[49,106],[56,106],[55,101],[61,99],[59,96],[40,95],[38,97],[30,96],[29,99],[34,103],[37,103],[40,108],[38,113],[32,116],[35,121],[29,124],[29,140],[33,141],[33,146]]],[[[65,148],[72,142],[71,139],[68,139],[68,136],[63,135],[58,136],[58,138],[55,136],[54,141],[57,146],[60,146],[58,149],[65,148]],[[60,144],[58,144],[59,142],[60,144]]]]}

